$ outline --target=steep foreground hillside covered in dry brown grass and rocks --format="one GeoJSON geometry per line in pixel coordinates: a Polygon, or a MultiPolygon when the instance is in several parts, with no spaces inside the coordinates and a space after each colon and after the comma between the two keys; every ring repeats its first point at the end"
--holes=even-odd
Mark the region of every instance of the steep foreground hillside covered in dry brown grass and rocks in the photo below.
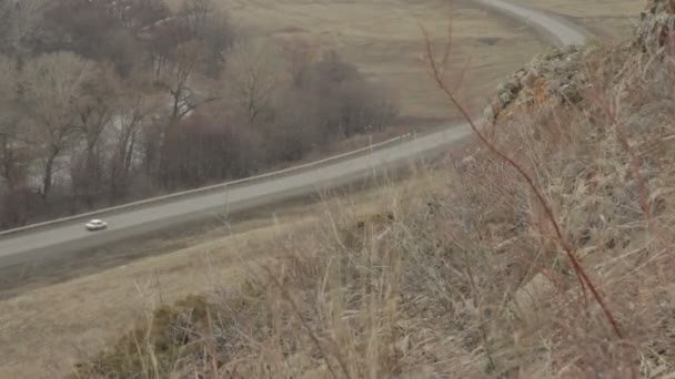
{"type": "Polygon", "coordinates": [[[367,206],[250,236],[253,257],[194,247],[201,293],[72,378],[675,378],[673,28],[652,0],[628,40],[535,57],[475,143],[367,206]]]}

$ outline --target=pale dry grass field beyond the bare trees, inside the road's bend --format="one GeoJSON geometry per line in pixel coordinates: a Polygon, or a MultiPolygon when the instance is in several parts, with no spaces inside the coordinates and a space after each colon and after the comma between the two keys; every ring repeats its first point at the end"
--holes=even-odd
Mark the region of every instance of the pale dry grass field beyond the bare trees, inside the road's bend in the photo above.
{"type": "Polygon", "coordinates": [[[403,117],[456,119],[426,76],[420,45],[421,20],[439,43],[452,18],[457,47],[451,64],[460,71],[471,58],[466,99],[483,106],[484,96],[504,74],[522,66],[545,44],[531,30],[464,2],[444,0],[222,0],[242,27],[255,34],[302,40],[319,49],[335,49],[399,98],[403,117]]]}

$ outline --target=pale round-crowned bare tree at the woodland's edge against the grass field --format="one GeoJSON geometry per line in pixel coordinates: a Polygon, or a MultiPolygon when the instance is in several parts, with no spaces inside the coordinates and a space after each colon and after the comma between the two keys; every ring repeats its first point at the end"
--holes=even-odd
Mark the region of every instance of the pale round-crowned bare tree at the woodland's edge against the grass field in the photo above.
{"type": "Polygon", "coordinates": [[[269,106],[271,94],[288,74],[283,52],[263,39],[234,45],[228,57],[223,86],[249,122],[269,106]]]}

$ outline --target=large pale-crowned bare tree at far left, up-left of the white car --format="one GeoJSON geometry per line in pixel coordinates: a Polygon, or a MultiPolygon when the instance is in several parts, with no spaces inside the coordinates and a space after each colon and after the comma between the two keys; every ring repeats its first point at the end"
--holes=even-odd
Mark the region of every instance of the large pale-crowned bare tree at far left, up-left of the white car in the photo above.
{"type": "Polygon", "coordinates": [[[70,52],[42,54],[22,70],[21,102],[33,125],[44,198],[53,184],[57,158],[72,146],[80,96],[92,71],[91,62],[70,52]]]}

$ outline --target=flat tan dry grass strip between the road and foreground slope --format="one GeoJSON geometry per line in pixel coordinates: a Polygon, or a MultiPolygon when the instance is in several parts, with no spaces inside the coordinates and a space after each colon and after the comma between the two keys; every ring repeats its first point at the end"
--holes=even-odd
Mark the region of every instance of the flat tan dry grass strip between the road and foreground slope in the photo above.
{"type": "MultiPolygon", "coordinates": [[[[240,260],[273,256],[275,237],[302,229],[311,215],[261,227],[169,255],[131,262],[118,268],[41,287],[2,301],[0,377],[53,378],[70,371],[74,357],[103,348],[127,330],[129,320],[161,301],[174,301],[213,288],[214,280],[235,280],[240,260]],[[241,255],[239,255],[241,253],[241,255]],[[218,278],[218,279],[215,279],[218,278]],[[36,359],[37,358],[37,359],[36,359]]],[[[204,238],[204,236],[202,236],[204,238]]]]}

